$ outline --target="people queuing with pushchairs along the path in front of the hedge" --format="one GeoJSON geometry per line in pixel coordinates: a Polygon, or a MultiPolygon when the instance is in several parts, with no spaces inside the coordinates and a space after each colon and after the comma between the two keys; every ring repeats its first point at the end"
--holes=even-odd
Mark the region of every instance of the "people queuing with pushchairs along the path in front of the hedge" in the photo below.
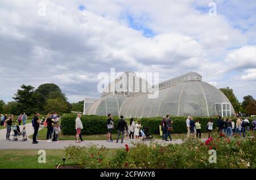
{"type": "MultiPolygon", "coordinates": [[[[43,121],[40,121],[39,119],[39,113],[35,113],[35,117],[32,118],[32,126],[34,128],[34,134],[33,134],[33,144],[38,144],[39,142],[36,140],[36,136],[38,136],[38,130],[40,125],[43,127],[47,127],[47,143],[49,142],[56,142],[59,143],[59,134],[61,132],[61,126],[59,123],[60,116],[57,113],[48,113],[46,119],[43,119],[43,121]]],[[[235,134],[237,136],[243,135],[243,138],[246,138],[246,131],[250,131],[250,121],[246,117],[245,119],[242,119],[239,117],[239,115],[236,115],[237,121],[232,121],[231,118],[224,118],[222,119],[221,116],[218,117],[217,121],[217,132],[220,132],[226,136],[233,137],[235,134]]],[[[18,123],[20,126],[21,123],[23,124],[22,127],[22,134],[23,137],[26,135],[26,121],[27,121],[27,115],[26,113],[20,114],[16,121],[14,121],[14,115],[10,114],[7,116],[6,114],[1,114],[1,126],[6,127],[6,140],[10,139],[10,133],[11,133],[11,127],[14,125],[14,123],[18,123]]],[[[255,135],[256,131],[256,119],[253,119],[252,127],[253,132],[255,135]]],[[[172,140],[171,132],[173,131],[172,127],[173,121],[171,120],[170,115],[166,115],[166,117],[163,117],[162,121],[160,122],[161,125],[161,131],[162,131],[162,140],[169,141],[172,140]]],[[[201,123],[199,119],[196,119],[194,121],[193,117],[188,116],[186,120],[186,126],[187,126],[187,138],[201,138],[201,123]]],[[[108,134],[107,134],[107,141],[113,142],[112,134],[114,130],[114,120],[113,115],[108,114],[108,120],[107,120],[107,127],[108,127],[108,134]]],[[[75,128],[76,128],[76,143],[82,142],[82,135],[81,130],[84,128],[82,126],[81,122],[81,114],[77,114],[76,121],[75,121],[75,128]]],[[[207,127],[205,129],[208,132],[208,137],[212,136],[212,132],[214,130],[213,128],[213,119],[209,118],[209,122],[207,123],[207,127]]],[[[121,139],[121,143],[123,143],[123,140],[125,138],[125,132],[126,136],[129,136],[129,140],[133,141],[139,141],[140,137],[145,136],[144,131],[142,130],[141,120],[138,119],[138,121],[135,123],[134,118],[130,118],[129,125],[127,125],[127,122],[125,121],[123,115],[120,116],[120,119],[117,123],[117,141],[119,142],[119,139],[121,139]]]]}

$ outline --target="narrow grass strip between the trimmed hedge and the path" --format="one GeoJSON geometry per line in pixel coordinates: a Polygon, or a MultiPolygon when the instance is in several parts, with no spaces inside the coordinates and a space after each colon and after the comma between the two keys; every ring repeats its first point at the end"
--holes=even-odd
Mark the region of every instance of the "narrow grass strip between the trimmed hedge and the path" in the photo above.
{"type": "MultiPolygon", "coordinates": [[[[47,128],[43,128],[38,132],[38,137],[37,139],[39,140],[46,140],[46,134],[47,134],[47,128]]],[[[159,134],[154,134],[153,135],[155,139],[162,139],[162,136],[159,134]]],[[[187,138],[187,134],[171,134],[172,139],[183,139],[187,138]]],[[[207,138],[208,134],[207,133],[202,133],[201,138],[207,138]]],[[[32,135],[29,136],[29,138],[32,139],[32,135]]],[[[98,134],[98,135],[82,135],[83,140],[106,140],[106,134],[98,134]]],[[[112,139],[117,139],[117,134],[112,135],[112,139]]],[[[63,135],[60,133],[59,135],[59,140],[76,140],[75,135],[63,135]]]]}

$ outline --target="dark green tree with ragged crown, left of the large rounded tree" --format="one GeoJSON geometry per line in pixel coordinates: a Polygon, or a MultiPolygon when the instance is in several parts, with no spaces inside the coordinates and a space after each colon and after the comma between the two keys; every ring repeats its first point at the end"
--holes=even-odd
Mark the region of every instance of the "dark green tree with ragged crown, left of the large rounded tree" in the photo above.
{"type": "Polygon", "coordinates": [[[38,111],[39,95],[34,92],[34,87],[22,84],[20,88],[22,89],[18,89],[13,97],[18,102],[17,106],[20,113],[32,114],[38,111]]]}

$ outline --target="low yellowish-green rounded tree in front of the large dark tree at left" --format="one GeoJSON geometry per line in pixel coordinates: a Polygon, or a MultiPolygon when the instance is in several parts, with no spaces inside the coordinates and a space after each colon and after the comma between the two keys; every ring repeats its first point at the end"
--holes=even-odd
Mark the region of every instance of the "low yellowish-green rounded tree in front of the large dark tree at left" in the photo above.
{"type": "Polygon", "coordinates": [[[44,105],[44,110],[46,112],[56,112],[63,114],[68,112],[68,105],[67,102],[59,98],[51,99],[46,101],[46,104],[44,105]]]}

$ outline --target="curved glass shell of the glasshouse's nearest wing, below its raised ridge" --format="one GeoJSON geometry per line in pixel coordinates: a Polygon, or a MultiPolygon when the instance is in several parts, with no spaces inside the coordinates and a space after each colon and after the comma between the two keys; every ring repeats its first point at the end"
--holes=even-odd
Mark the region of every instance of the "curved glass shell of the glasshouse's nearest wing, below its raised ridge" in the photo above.
{"type": "MultiPolygon", "coordinates": [[[[158,98],[148,98],[148,93],[127,98],[119,115],[125,117],[212,116],[214,104],[227,102],[228,98],[212,85],[197,80],[181,82],[159,90],[158,98]]],[[[234,114],[232,107],[231,112],[234,114]]]]}

